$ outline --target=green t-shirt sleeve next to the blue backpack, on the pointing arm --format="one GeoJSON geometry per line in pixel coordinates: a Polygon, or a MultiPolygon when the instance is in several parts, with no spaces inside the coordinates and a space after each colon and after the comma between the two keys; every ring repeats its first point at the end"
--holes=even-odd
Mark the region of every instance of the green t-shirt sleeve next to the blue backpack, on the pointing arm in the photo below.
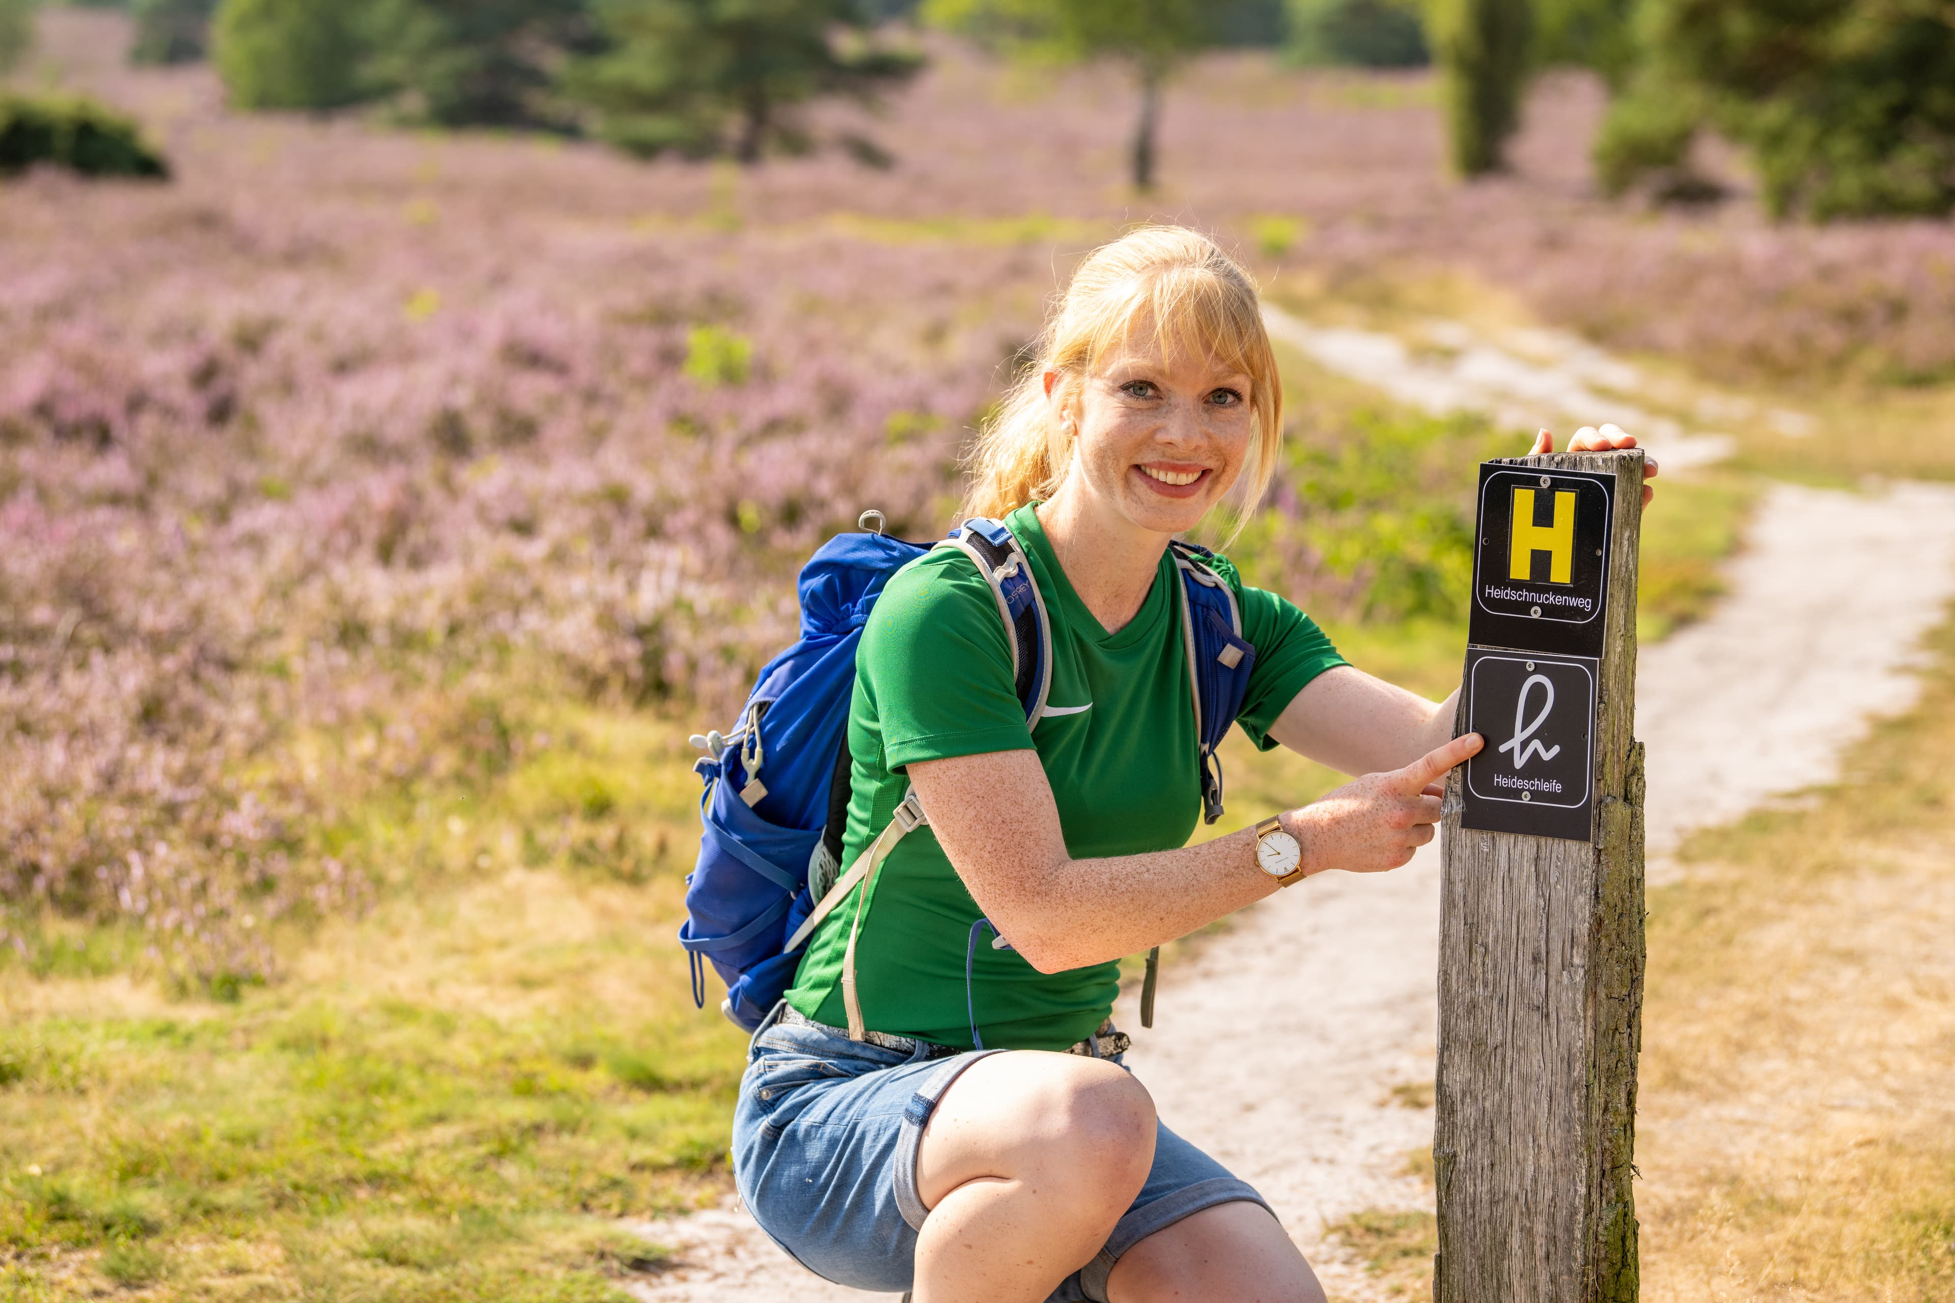
{"type": "Polygon", "coordinates": [[[856,666],[890,770],[1032,746],[1005,619],[964,557],[936,553],[890,580],[862,629],[856,666]]]}

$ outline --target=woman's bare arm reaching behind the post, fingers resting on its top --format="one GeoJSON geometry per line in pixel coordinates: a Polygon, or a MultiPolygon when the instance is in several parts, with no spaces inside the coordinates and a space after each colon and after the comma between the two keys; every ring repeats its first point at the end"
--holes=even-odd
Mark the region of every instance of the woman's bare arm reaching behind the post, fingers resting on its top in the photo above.
{"type": "MultiPolygon", "coordinates": [[[[1636,436],[1619,426],[1584,426],[1568,440],[1572,453],[1605,453],[1634,447],[1636,436]]],[[[1554,436],[1542,430],[1535,436],[1529,457],[1554,451],[1554,436]]],[[[1656,459],[1644,461],[1642,477],[1656,477],[1656,459]]],[[[1642,502],[1650,504],[1656,490],[1642,486],[1642,502]]],[[[1351,666],[1325,670],[1290,697],[1282,715],[1271,725],[1269,736],[1294,752],[1302,752],[1339,774],[1382,774],[1402,770],[1419,756],[1445,746],[1453,736],[1453,715],[1458,692],[1445,701],[1425,697],[1386,684],[1351,666]]]]}

